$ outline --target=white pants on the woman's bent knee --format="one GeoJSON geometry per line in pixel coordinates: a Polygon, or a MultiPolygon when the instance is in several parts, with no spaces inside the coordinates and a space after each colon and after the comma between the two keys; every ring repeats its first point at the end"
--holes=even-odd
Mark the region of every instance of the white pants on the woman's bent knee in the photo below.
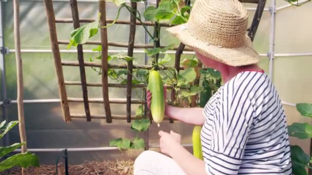
{"type": "Polygon", "coordinates": [[[186,175],[173,159],[151,150],[135,159],[133,171],[134,175],[186,175]]]}

